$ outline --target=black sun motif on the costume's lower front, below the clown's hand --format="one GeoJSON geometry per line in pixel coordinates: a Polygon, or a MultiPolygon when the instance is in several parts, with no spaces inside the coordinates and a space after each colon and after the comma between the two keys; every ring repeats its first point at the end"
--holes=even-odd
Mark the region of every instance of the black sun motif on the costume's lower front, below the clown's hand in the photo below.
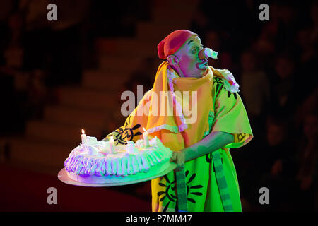
{"type": "MultiPolygon", "coordinates": [[[[196,203],[195,198],[196,196],[202,196],[202,192],[199,191],[192,191],[193,189],[201,189],[203,188],[203,186],[201,184],[197,184],[197,185],[190,185],[190,183],[194,180],[194,178],[196,177],[196,174],[192,174],[191,177],[189,177],[189,179],[187,180],[187,176],[189,175],[189,170],[187,170],[185,172],[185,176],[186,176],[186,181],[187,181],[187,200],[192,202],[192,203],[196,203]],[[194,196],[191,196],[194,195],[194,196]],[[190,197],[189,197],[190,196],[190,197]]],[[[167,204],[165,205],[165,208],[163,208],[163,212],[167,211],[167,208],[169,207],[170,203],[175,203],[175,211],[178,212],[179,208],[178,208],[178,203],[177,203],[177,197],[175,196],[175,190],[177,187],[176,184],[176,180],[174,180],[173,182],[170,182],[170,179],[167,178],[167,175],[165,175],[163,177],[166,181],[166,184],[163,184],[162,182],[159,182],[159,186],[162,186],[165,188],[165,191],[159,191],[158,192],[158,196],[162,196],[160,198],[160,202],[163,202],[165,200],[165,198],[167,197],[167,199],[169,200],[167,202],[167,204]]]]}

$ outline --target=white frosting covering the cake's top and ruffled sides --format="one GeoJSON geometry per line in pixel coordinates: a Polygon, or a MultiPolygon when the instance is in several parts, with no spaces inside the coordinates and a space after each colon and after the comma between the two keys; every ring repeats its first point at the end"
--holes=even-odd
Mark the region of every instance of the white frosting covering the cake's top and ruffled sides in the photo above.
{"type": "Polygon", "coordinates": [[[88,137],[85,145],[74,148],[64,161],[66,171],[80,176],[128,176],[148,172],[160,162],[169,162],[172,151],[155,136],[146,147],[143,140],[117,145],[110,152],[108,141],[88,137]]]}

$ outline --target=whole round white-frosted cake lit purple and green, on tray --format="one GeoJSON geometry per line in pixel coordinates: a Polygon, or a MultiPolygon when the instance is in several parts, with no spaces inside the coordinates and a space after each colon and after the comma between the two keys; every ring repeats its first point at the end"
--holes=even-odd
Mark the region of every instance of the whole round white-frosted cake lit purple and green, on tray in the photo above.
{"type": "Polygon", "coordinates": [[[155,136],[126,145],[111,145],[87,136],[85,145],[74,148],[64,161],[69,178],[88,184],[130,182],[154,177],[170,165],[172,151],[155,136]],[[113,148],[112,148],[113,147],[113,148]],[[112,149],[111,149],[112,148],[112,149]]]}

